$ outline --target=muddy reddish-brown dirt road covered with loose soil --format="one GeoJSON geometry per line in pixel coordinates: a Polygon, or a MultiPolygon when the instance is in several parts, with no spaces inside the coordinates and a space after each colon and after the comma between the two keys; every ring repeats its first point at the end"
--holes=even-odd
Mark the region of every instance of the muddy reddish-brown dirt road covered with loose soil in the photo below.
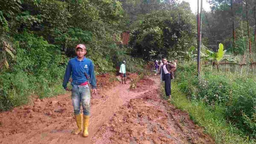
{"type": "Polygon", "coordinates": [[[160,100],[160,80],[153,80],[142,79],[132,91],[129,84],[101,83],[91,101],[88,138],[72,134],[76,124],[70,93],[0,113],[0,144],[214,143],[188,114],[160,100]]]}

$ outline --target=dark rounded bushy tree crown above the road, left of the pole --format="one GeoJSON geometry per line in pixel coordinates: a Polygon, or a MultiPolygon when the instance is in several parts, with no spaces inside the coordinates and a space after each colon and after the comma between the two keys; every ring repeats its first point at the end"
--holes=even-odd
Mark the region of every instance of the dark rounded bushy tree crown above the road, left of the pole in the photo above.
{"type": "Polygon", "coordinates": [[[131,32],[130,46],[132,54],[142,55],[144,59],[169,56],[174,50],[186,50],[182,47],[183,40],[192,42],[195,34],[193,14],[180,7],[173,11],[160,10],[146,14],[131,32]],[[182,39],[182,40],[181,40],[182,39]],[[150,55],[150,51],[157,55],[150,55]]]}

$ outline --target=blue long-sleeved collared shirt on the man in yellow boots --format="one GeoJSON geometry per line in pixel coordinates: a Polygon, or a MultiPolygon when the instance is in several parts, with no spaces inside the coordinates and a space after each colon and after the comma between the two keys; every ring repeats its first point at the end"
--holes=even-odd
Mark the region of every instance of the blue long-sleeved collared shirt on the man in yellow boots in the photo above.
{"type": "Polygon", "coordinates": [[[89,58],[83,58],[82,61],[79,61],[77,57],[72,58],[68,61],[68,65],[65,71],[64,80],[62,86],[64,89],[67,88],[68,80],[70,79],[72,73],[72,82],[71,85],[80,85],[81,83],[87,82],[85,73],[90,77],[90,83],[92,89],[97,88],[96,77],[94,72],[94,65],[92,60],[89,58]]]}

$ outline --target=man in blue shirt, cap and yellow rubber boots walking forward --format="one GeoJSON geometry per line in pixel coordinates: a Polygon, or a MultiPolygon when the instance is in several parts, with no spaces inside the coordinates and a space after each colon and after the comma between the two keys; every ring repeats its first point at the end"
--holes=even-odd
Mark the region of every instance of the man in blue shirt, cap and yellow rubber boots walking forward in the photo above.
{"type": "Polygon", "coordinates": [[[88,83],[92,85],[93,93],[96,93],[96,78],[92,60],[85,58],[85,54],[87,53],[85,45],[78,44],[75,50],[77,57],[72,58],[68,62],[64,75],[63,87],[65,90],[70,91],[67,87],[67,83],[72,74],[72,105],[74,107],[75,120],[78,126],[78,129],[75,130],[74,134],[79,134],[83,130],[83,137],[88,137],[91,97],[88,83]],[[83,107],[83,129],[82,114],[80,114],[81,103],[83,107]]]}

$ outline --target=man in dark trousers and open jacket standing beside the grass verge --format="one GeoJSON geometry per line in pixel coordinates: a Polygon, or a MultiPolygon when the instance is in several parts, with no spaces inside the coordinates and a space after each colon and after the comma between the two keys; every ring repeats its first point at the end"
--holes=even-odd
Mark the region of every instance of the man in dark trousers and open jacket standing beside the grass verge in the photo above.
{"type": "Polygon", "coordinates": [[[159,75],[161,73],[161,79],[164,81],[164,90],[166,96],[171,100],[171,79],[174,79],[174,71],[176,66],[167,62],[166,58],[163,58],[163,65],[160,67],[160,70],[154,75],[159,75]]]}

